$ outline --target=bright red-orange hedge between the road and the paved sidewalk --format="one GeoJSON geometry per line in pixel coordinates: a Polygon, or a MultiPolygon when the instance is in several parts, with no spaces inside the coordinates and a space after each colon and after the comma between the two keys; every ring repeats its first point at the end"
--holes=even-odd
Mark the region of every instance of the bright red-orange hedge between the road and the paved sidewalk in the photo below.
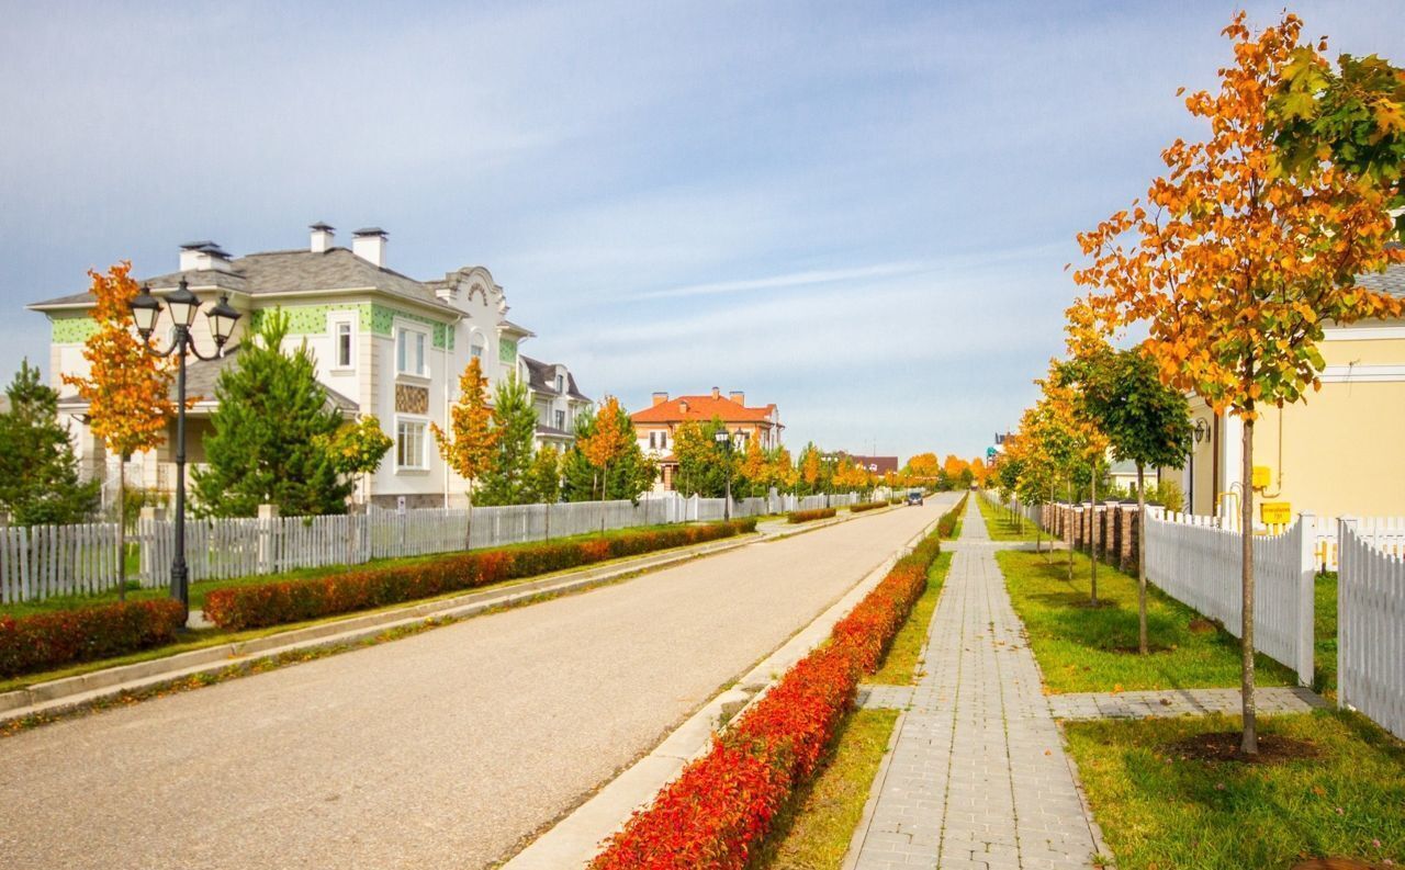
{"type": "Polygon", "coordinates": [[[819,766],[863,672],[873,672],[927,585],[924,540],[725,734],[635,812],[592,870],[742,870],[776,814],[819,766]]]}

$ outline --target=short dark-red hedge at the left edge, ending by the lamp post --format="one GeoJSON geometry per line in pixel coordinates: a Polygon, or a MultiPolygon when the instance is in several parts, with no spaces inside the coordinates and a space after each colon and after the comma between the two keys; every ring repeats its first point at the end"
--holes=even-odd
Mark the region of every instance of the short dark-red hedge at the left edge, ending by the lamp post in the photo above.
{"type": "Polygon", "coordinates": [[[111,658],[176,640],[185,624],[178,601],[129,601],[100,608],[0,616],[0,676],[111,658]]]}

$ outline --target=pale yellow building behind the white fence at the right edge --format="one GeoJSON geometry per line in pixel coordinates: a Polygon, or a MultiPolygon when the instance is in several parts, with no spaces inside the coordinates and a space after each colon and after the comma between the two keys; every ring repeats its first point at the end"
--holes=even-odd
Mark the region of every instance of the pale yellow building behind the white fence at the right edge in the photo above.
{"type": "MultiPolygon", "coordinates": [[[[1360,283],[1405,296],[1405,267],[1360,283]]],[[[1318,516],[1405,515],[1405,320],[1329,326],[1318,349],[1322,390],[1281,410],[1270,406],[1255,424],[1253,464],[1267,473],[1256,502],[1318,516]]],[[[1236,511],[1242,424],[1196,396],[1190,411],[1197,443],[1182,471],[1187,504],[1194,514],[1236,511]]]]}

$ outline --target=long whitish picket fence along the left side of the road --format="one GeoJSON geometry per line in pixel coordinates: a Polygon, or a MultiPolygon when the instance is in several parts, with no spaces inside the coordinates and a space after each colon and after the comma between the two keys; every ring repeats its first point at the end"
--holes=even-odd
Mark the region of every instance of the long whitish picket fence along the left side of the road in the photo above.
{"type": "MultiPolygon", "coordinates": [[[[631,501],[579,501],[469,509],[423,508],[271,519],[185,519],[185,561],[192,582],[277,574],[294,568],[362,564],[372,558],[430,556],[590,532],[725,516],[759,516],[860,501],[839,495],[773,494],[733,500],[648,494],[631,501]],[[472,514],[472,518],[469,516],[472,514]]],[[[129,580],[164,587],[176,554],[176,523],[142,519],[128,536],[140,553],[129,580]]],[[[118,582],[117,523],[0,528],[0,603],[96,594],[118,582]]]]}

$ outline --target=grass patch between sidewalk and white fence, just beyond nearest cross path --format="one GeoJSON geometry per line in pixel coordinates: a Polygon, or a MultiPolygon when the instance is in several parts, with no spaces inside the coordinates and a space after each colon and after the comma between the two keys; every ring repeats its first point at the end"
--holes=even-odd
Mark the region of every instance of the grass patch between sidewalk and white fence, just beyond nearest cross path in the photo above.
{"type": "MultiPolygon", "coordinates": [[[[1066,553],[996,553],[1014,612],[1051,692],[1113,692],[1239,685],[1239,641],[1155,587],[1146,589],[1152,652],[1137,652],[1137,581],[1097,566],[1102,606],[1089,608],[1087,557],[1066,553]],[[1196,622],[1194,629],[1191,620],[1196,622]]],[[[1260,686],[1290,686],[1287,668],[1257,657],[1260,686]]]]}

